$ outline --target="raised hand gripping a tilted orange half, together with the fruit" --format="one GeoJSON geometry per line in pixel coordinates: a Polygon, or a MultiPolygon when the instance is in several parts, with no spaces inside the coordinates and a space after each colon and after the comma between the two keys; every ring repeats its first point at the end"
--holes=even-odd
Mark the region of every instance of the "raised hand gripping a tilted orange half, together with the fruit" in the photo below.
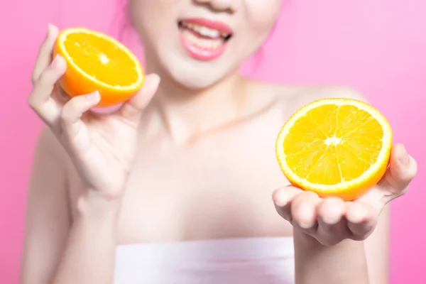
{"type": "Polygon", "coordinates": [[[138,149],[143,111],[160,77],[143,76],[134,55],[102,34],[82,28],[60,32],[48,25],[31,79],[28,105],[48,126],[45,133],[62,145],[82,190],[95,192],[95,199],[108,204],[121,200],[138,149]],[[57,84],[71,98],[60,96],[57,84]],[[89,111],[119,102],[123,104],[108,115],[89,111]]]}

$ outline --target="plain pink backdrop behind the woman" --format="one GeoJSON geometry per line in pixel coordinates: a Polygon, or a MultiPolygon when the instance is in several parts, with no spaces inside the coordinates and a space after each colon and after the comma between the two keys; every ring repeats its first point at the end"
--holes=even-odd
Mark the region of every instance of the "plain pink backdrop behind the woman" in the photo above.
{"type": "MultiPolygon", "coordinates": [[[[26,104],[38,44],[48,22],[109,33],[114,1],[0,1],[1,283],[18,283],[28,175],[42,126],[26,104]]],[[[424,11],[424,0],[288,1],[254,73],[276,82],[356,87],[391,121],[395,141],[417,158],[410,192],[393,202],[392,284],[426,283],[424,11]]]]}

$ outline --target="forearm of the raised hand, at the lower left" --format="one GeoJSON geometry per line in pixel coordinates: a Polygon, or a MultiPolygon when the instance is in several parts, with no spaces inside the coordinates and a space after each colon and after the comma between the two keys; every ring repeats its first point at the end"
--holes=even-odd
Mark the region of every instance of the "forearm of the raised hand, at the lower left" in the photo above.
{"type": "Polygon", "coordinates": [[[114,281],[117,202],[82,197],[52,284],[114,281]]]}

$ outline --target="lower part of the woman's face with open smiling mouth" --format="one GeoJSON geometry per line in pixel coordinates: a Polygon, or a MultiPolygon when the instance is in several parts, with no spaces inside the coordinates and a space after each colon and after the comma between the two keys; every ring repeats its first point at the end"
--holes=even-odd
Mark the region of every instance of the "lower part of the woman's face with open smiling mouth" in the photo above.
{"type": "Polygon", "coordinates": [[[202,89],[234,72],[271,31],[282,0],[129,0],[155,72],[202,89]]]}

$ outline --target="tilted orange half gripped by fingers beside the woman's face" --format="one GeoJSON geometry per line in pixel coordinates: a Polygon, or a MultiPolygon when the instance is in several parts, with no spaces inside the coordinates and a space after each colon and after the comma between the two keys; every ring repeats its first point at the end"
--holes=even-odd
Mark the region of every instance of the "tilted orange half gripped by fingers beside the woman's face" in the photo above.
{"type": "Polygon", "coordinates": [[[98,91],[97,107],[109,107],[130,99],[145,79],[136,55],[118,40],[88,28],[60,32],[53,56],[62,55],[67,71],[59,81],[71,97],[98,91]]]}

